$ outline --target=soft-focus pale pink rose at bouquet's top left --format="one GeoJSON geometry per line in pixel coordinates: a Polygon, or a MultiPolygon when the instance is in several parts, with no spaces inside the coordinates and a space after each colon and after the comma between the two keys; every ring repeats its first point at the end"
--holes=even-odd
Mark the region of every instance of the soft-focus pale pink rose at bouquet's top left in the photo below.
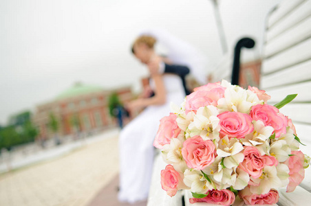
{"type": "Polygon", "coordinates": [[[217,106],[217,101],[220,98],[224,98],[224,89],[222,88],[215,88],[210,91],[198,89],[186,96],[186,104],[184,105],[184,108],[186,109],[186,113],[189,113],[190,111],[196,113],[197,109],[202,106],[217,106]]]}

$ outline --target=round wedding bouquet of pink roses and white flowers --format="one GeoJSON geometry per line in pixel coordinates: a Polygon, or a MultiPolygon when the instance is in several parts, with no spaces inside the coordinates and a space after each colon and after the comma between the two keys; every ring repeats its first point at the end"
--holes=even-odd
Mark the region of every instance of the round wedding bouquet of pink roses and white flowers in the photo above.
{"type": "Polygon", "coordinates": [[[294,191],[310,163],[292,120],[279,112],[294,97],[270,106],[256,87],[225,80],[197,87],[160,120],[153,145],[168,163],[162,189],[190,190],[190,203],[232,205],[237,196],[247,205],[277,203],[277,188],[294,191]]]}

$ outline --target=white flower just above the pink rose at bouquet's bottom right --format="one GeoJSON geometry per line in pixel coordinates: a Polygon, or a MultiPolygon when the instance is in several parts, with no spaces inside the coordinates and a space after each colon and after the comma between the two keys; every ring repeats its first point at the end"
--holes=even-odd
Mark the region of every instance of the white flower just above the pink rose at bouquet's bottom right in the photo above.
{"type": "Polygon", "coordinates": [[[250,192],[253,194],[267,194],[271,188],[277,189],[282,185],[275,166],[265,166],[259,178],[250,177],[250,180],[253,182],[250,184],[250,192]]]}

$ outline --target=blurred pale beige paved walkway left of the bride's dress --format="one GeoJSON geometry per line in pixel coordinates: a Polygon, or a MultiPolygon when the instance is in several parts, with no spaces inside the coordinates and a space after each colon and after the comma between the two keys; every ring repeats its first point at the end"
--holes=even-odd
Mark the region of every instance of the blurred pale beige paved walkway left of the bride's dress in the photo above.
{"type": "Polygon", "coordinates": [[[0,205],[88,205],[118,174],[118,133],[109,135],[58,159],[1,174],[0,205]]]}

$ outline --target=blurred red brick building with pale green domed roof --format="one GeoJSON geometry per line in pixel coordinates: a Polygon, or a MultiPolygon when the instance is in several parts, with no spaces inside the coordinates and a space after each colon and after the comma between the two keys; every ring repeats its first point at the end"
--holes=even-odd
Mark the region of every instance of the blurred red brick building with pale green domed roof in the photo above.
{"type": "Polygon", "coordinates": [[[54,133],[49,122],[54,115],[58,122],[58,135],[73,135],[77,132],[92,132],[116,126],[109,115],[108,99],[116,92],[121,102],[132,98],[130,87],[104,90],[87,84],[76,83],[60,93],[54,100],[36,106],[34,124],[39,128],[39,139],[50,139],[54,133]]]}

